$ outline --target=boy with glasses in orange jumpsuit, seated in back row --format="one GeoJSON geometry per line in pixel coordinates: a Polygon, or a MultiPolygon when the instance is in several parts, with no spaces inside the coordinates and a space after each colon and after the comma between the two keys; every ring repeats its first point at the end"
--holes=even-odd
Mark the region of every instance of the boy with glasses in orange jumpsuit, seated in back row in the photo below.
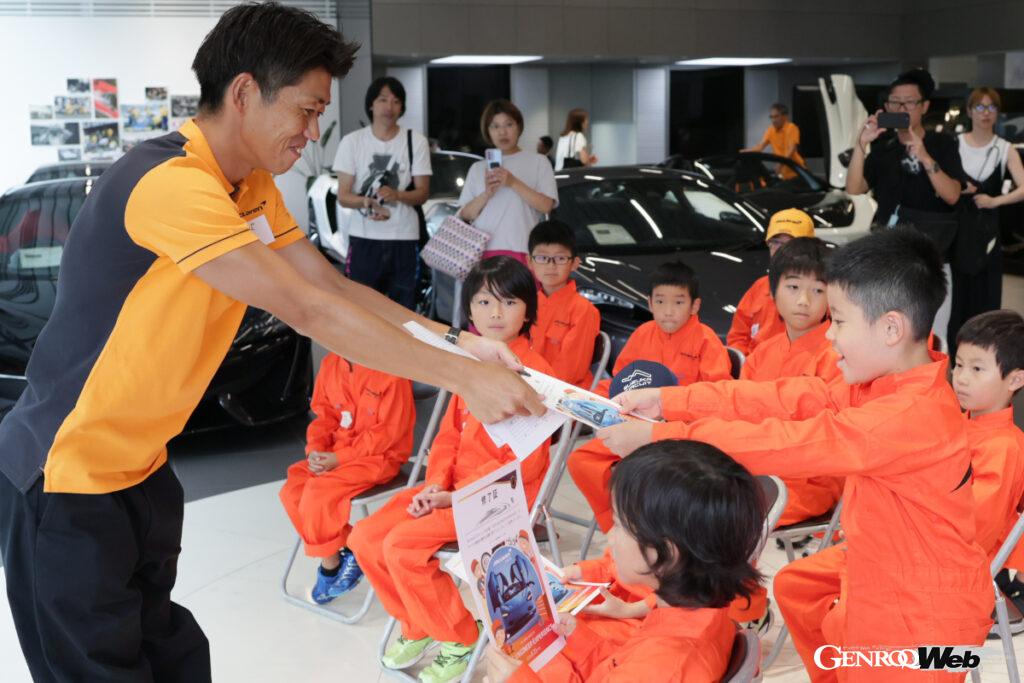
{"type": "Polygon", "coordinates": [[[589,389],[601,313],[577,294],[571,278],[580,267],[575,236],[565,223],[546,220],[530,231],[528,247],[529,269],[541,284],[530,344],[555,371],[555,377],[589,389]]]}

